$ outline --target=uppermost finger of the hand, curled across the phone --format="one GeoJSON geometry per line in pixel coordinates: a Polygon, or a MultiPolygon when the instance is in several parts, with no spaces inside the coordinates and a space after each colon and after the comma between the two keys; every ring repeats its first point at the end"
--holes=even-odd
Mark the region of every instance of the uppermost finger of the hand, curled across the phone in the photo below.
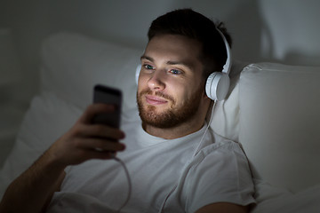
{"type": "Polygon", "coordinates": [[[92,118],[96,114],[113,113],[115,112],[115,109],[116,107],[114,105],[95,103],[86,108],[84,114],[80,117],[78,121],[83,123],[91,123],[92,118]]]}

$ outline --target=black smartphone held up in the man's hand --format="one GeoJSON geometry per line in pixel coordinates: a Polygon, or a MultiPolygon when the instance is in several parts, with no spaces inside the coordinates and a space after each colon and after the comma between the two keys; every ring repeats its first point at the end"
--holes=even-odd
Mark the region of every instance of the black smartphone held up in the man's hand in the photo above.
{"type": "Polygon", "coordinates": [[[93,118],[93,123],[106,124],[114,128],[120,127],[122,92],[116,88],[97,84],[93,88],[93,103],[104,103],[116,106],[112,113],[97,114],[93,118]]]}

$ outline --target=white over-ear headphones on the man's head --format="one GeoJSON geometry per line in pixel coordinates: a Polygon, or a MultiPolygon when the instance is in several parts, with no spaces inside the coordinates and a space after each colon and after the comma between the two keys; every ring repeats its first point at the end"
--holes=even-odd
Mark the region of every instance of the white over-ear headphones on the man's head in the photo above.
{"type": "MultiPolygon", "coordinates": [[[[223,39],[227,51],[227,61],[223,66],[222,72],[213,72],[206,80],[205,83],[205,93],[212,100],[223,100],[226,99],[228,94],[228,88],[230,85],[229,72],[232,65],[231,50],[226,37],[216,28],[223,39]]],[[[136,83],[138,84],[138,79],[140,75],[141,65],[136,68],[136,83]]]]}

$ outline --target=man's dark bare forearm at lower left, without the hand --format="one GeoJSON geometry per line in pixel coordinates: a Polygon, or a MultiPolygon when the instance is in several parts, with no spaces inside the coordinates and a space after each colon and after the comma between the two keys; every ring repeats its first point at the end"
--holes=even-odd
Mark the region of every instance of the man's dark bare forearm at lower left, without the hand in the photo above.
{"type": "Polygon", "coordinates": [[[65,173],[48,152],[16,178],[4,193],[0,212],[40,212],[59,191],[65,173]]]}

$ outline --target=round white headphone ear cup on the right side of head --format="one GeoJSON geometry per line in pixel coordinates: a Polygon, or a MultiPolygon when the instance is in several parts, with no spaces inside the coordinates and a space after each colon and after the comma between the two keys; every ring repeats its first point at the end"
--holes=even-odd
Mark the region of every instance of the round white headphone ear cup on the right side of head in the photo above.
{"type": "Polygon", "coordinates": [[[226,99],[230,79],[227,74],[214,72],[207,78],[205,83],[205,93],[212,100],[226,99]]]}

